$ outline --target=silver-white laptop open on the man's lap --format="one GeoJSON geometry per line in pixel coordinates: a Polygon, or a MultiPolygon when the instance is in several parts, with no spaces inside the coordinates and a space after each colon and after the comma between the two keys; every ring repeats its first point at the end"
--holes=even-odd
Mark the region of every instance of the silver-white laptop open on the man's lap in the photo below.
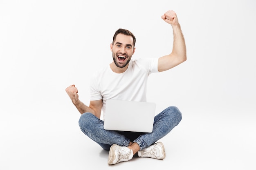
{"type": "Polygon", "coordinates": [[[107,100],[104,129],[130,132],[152,132],[155,103],[107,100]]]}

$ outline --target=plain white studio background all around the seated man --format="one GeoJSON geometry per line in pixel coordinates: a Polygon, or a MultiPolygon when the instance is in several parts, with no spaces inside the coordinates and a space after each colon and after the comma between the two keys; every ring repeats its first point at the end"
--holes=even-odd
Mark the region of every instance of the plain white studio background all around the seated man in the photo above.
{"type": "Polygon", "coordinates": [[[256,2],[254,0],[0,0],[0,169],[255,169],[256,2]],[[119,28],[137,42],[133,58],[171,53],[177,13],[187,61],[150,75],[157,112],[183,120],[161,141],[163,161],[135,158],[108,167],[108,152],[86,137],[65,93],[90,102],[90,75],[112,62],[119,28]]]}

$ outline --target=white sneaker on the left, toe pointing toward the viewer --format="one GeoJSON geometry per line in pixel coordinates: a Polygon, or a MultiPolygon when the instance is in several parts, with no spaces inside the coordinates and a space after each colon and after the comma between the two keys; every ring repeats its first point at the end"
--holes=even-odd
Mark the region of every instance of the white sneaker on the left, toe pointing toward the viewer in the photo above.
{"type": "Polygon", "coordinates": [[[129,161],[133,157],[133,152],[126,146],[113,144],[108,154],[108,165],[114,165],[119,162],[129,161]]]}

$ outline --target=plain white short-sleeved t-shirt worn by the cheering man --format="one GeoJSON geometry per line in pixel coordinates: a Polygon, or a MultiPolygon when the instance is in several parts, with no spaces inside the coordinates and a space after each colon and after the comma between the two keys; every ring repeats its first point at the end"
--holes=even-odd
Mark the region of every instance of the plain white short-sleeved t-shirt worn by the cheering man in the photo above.
{"type": "Polygon", "coordinates": [[[148,75],[158,72],[157,63],[158,58],[130,60],[123,73],[113,72],[110,65],[104,67],[92,76],[91,100],[103,100],[103,114],[108,99],[146,102],[148,75]]]}

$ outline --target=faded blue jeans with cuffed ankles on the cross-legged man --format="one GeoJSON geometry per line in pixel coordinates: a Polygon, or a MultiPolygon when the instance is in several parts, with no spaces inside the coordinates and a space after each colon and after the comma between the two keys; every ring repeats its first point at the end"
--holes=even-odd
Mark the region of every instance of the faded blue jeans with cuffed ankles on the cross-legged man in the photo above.
{"type": "Polygon", "coordinates": [[[150,133],[105,130],[104,121],[92,113],[83,113],[79,119],[79,126],[85,135],[105,150],[109,150],[112,144],[128,146],[130,141],[136,142],[140,149],[144,149],[167,135],[181,119],[180,110],[170,106],[155,116],[153,131],[150,133]]]}

